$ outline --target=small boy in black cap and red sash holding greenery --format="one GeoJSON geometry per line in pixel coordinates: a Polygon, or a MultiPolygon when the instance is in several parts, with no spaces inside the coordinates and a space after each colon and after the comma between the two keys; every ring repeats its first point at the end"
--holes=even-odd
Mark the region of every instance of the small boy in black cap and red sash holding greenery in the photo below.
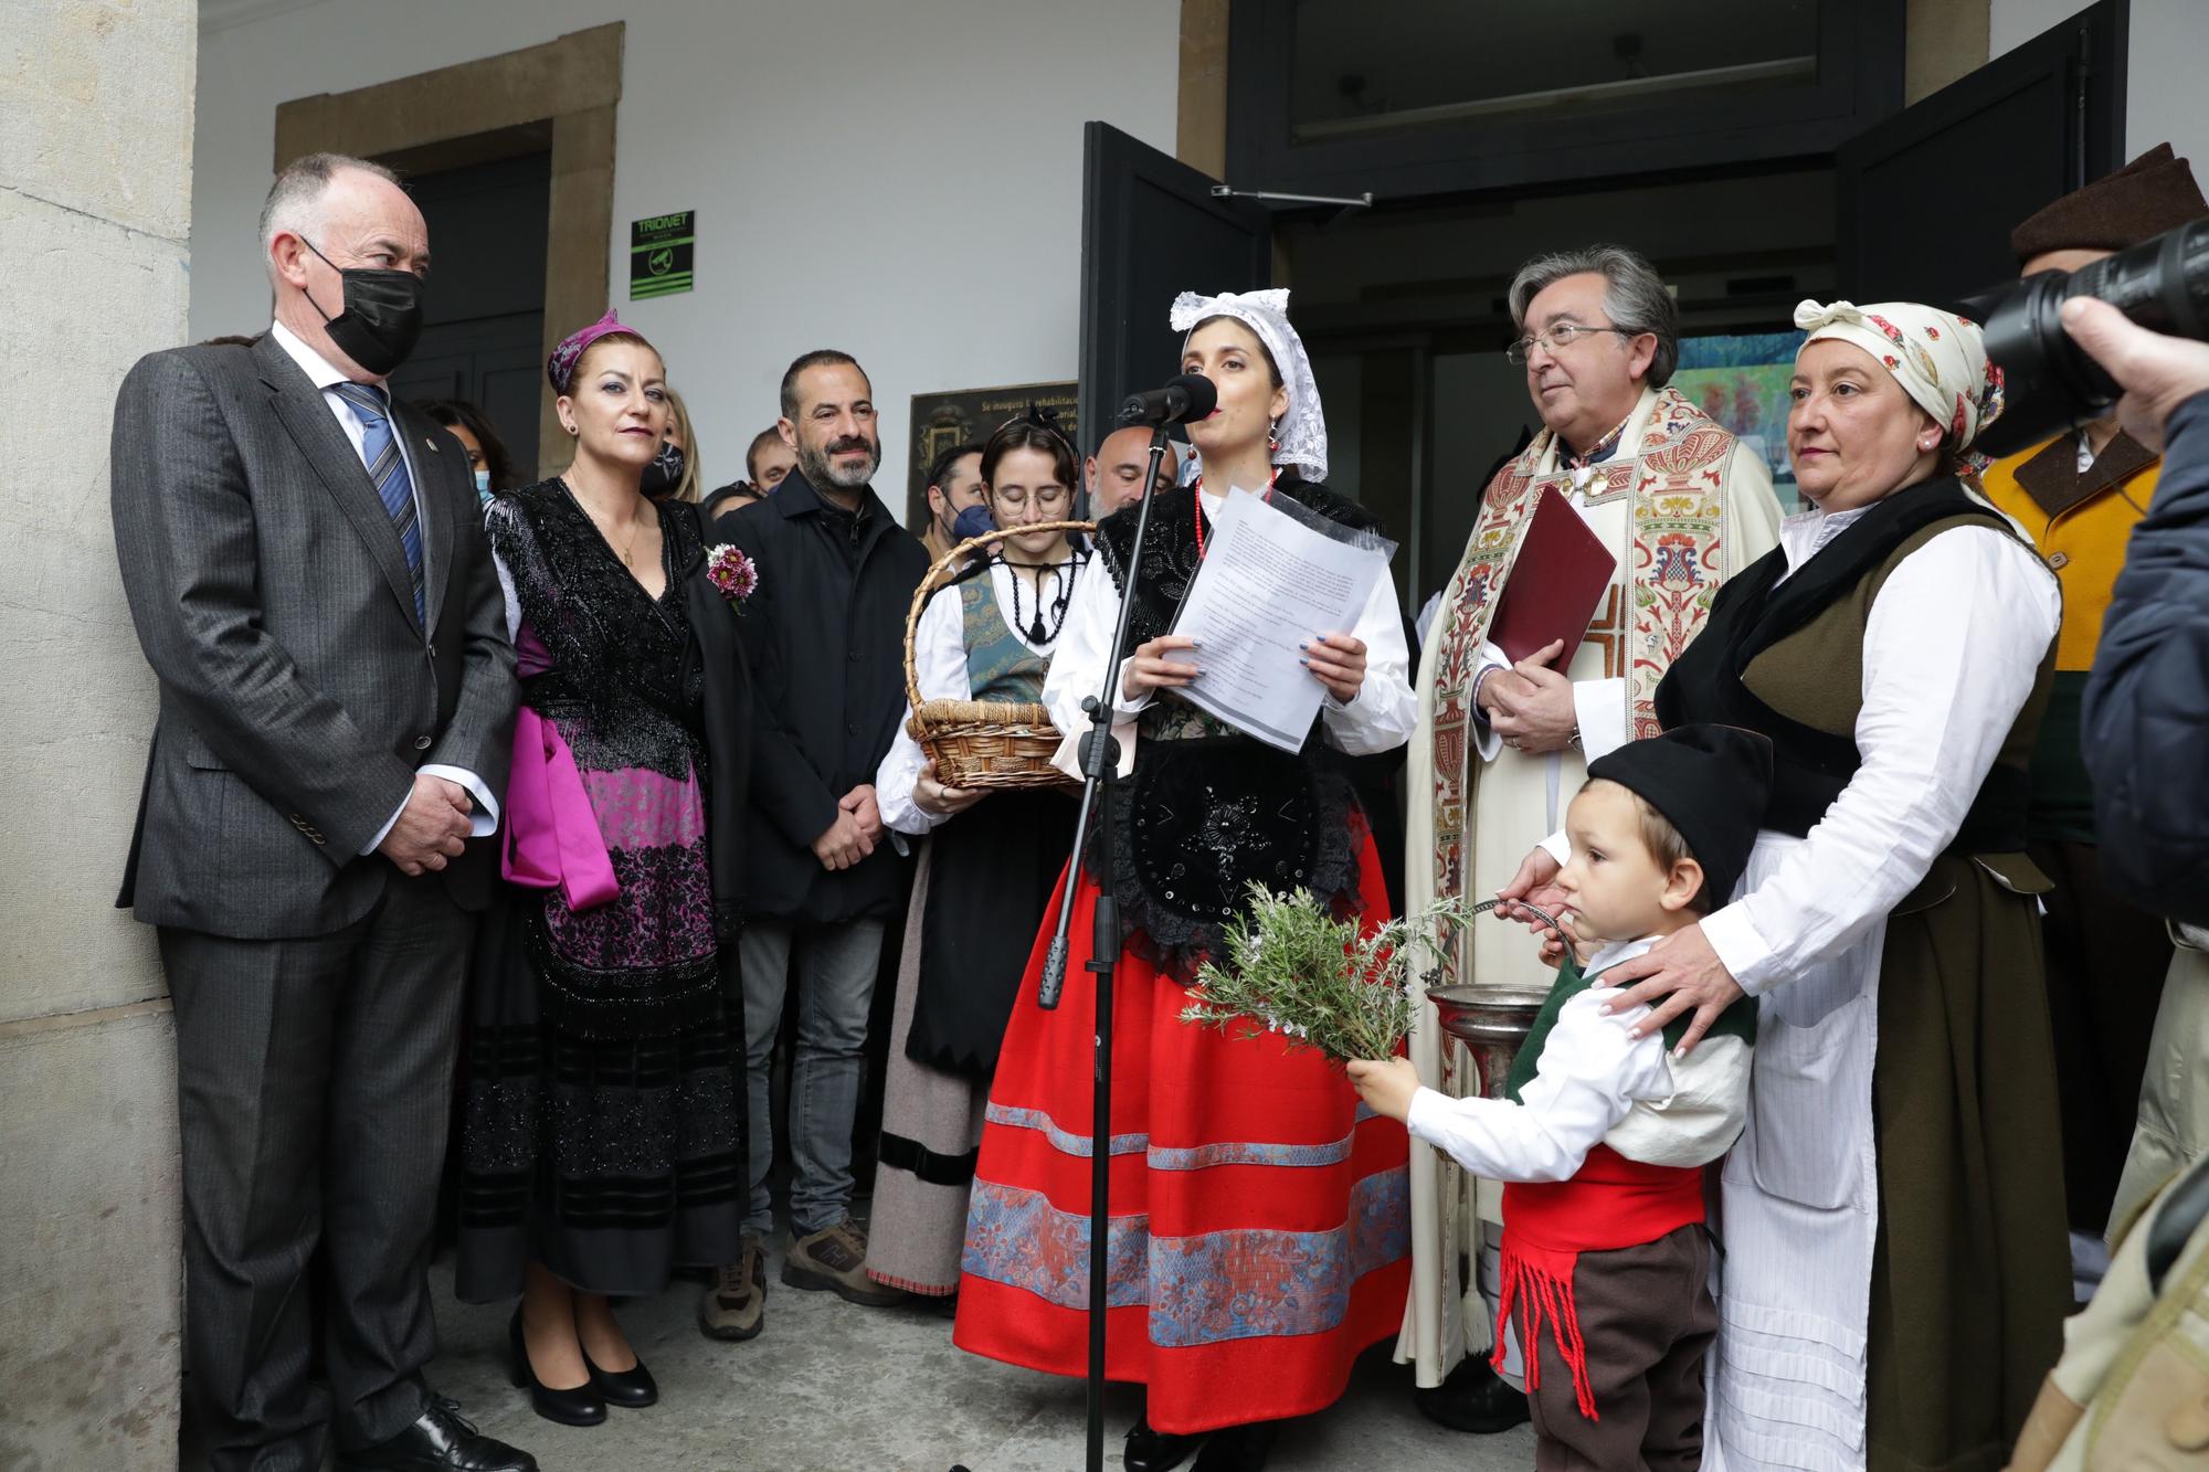
{"type": "Polygon", "coordinates": [[[1688,725],[1588,765],[1557,875],[1593,950],[1566,957],[1511,1068],[1507,1098],[1420,1087],[1409,1059],[1350,1063],[1378,1114],[1504,1180],[1502,1324],[1526,1353],[1535,1468],[1697,1468],[1703,1355],[1719,1331],[1703,1167],[1741,1136],[1756,1001],[1685,1059],[1688,1019],[1630,1037],[1606,968],[1734,895],[1772,782],[1772,743],[1688,725]]]}

